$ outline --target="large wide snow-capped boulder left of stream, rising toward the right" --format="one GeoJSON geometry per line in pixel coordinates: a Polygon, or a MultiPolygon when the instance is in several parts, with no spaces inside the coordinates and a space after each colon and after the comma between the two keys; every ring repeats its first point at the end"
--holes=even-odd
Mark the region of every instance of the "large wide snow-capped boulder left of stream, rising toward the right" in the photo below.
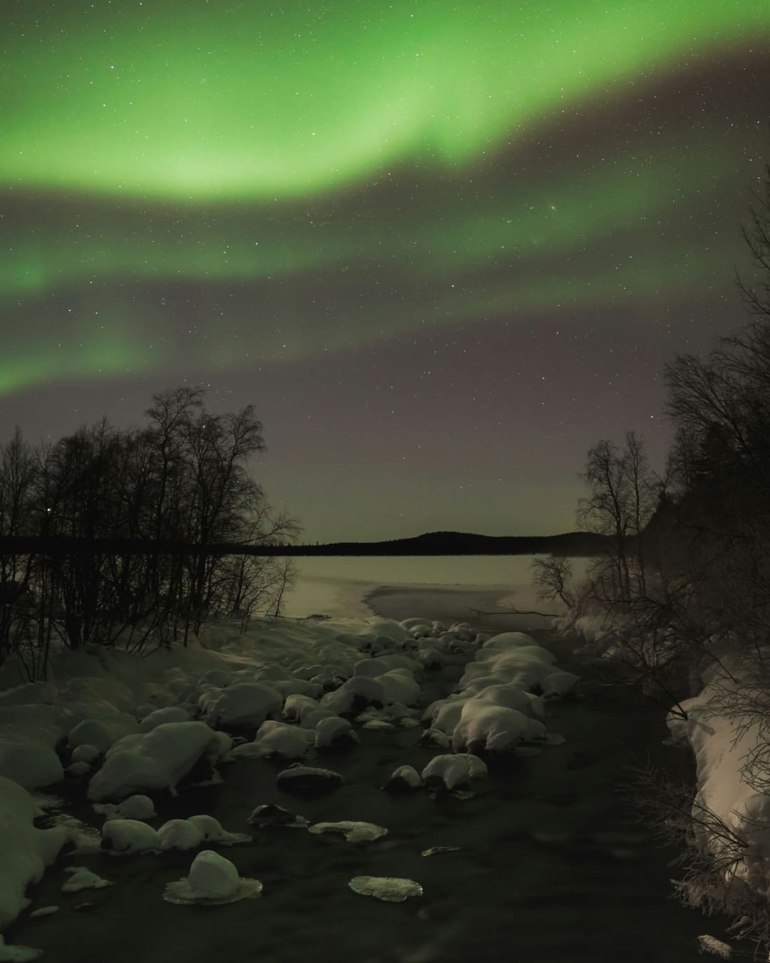
{"type": "Polygon", "coordinates": [[[150,732],[124,736],[91,778],[89,798],[103,802],[142,790],[175,792],[201,757],[209,752],[218,757],[219,747],[216,733],[198,721],[165,722],[150,732]]]}

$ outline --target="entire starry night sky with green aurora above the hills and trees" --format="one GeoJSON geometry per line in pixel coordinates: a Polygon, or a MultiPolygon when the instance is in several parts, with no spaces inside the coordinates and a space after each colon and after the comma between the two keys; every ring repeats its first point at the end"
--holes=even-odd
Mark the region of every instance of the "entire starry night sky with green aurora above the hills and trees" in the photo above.
{"type": "Polygon", "coordinates": [[[575,528],[747,320],[767,0],[6,0],[0,429],[253,403],[302,539],[575,528]]]}

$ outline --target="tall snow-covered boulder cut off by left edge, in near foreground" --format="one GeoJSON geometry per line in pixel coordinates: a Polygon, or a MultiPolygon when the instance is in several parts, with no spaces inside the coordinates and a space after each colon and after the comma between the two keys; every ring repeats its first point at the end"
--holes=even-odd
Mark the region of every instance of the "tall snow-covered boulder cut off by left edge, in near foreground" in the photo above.
{"type": "Polygon", "coordinates": [[[0,776],[0,930],[29,906],[25,890],[39,882],[69,837],[65,826],[37,829],[35,815],[32,796],[0,776]]]}

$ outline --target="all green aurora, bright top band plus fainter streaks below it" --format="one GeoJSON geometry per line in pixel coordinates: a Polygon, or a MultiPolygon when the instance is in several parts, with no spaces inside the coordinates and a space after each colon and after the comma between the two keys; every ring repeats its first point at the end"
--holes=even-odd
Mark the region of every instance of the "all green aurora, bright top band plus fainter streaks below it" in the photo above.
{"type": "Polygon", "coordinates": [[[770,4],[746,0],[18,2],[0,41],[0,191],[19,212],[0,394],[729,284],[735,238],[694,257],[682,223],[741,167],[718,126],[455,187],[597,99],[768,40],[770,4]],[[410,176],[419,196],[396,209],[387,185],[410,176]],[[178,284],[205,322],[185,351],[163,307],[178,284]],[[228,286],[253,290],[246,315],[228,286]],[[329,287],[347,305],[309,314],[329,287]]]}

